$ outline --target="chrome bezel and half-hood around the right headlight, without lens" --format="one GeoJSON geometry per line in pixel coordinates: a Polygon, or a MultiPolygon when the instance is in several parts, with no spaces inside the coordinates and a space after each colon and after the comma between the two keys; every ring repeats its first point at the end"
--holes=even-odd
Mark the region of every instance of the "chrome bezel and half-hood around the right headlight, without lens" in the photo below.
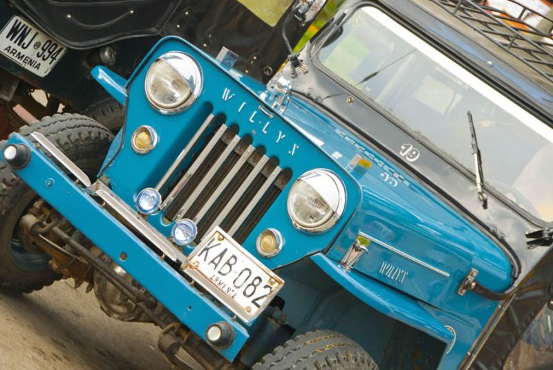
{"type": "Polygon", "coordinates": [[[346,196],[346,186],[337,174],[328,169],[312,169],[299,176],[292,184],[292,187],[290,187],[287,201],[288,216],[290,216],[292,224],[298,230],[312,233],[325,232],[336,225],[344,214],[344,210],[346,209],[346,196]],[[292,195],[294,194],[294,185],[299,181],[303,181],[312,187],[332,210],[330,215],[319,223],[308,225],[294,213],[292,195]]]}

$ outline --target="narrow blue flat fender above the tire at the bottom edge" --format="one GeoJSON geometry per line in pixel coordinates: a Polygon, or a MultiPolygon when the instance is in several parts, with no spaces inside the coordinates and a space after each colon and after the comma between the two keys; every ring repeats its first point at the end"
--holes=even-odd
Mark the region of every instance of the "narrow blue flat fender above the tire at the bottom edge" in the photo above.
{"type": "Polygon", "coordinates": [[[311,259],[348,292],[375,310],[424,331],[442,342],[449,343],[453,340],[453,333],[435,320],[415,299],[358,272],[347,271],[325,255],[312,255],[311,259]]]}

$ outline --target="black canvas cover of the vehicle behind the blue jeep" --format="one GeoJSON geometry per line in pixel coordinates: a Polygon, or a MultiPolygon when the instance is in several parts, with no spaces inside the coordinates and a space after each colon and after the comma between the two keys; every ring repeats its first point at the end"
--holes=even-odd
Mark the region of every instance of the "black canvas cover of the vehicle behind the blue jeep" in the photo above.
{"type": "MultiPolygon", "coordinates": [[[[267,81],[285,61],[281,32],[294,3],[271,26],[237,0],[11,0],[26,17],[73,49],[91,49],[132,37],[177,35],[211,55],[223,46],[240,58],[236,68],[267,81]]],[[[292,44],[309,24],[292,21],[292,44]]]]}

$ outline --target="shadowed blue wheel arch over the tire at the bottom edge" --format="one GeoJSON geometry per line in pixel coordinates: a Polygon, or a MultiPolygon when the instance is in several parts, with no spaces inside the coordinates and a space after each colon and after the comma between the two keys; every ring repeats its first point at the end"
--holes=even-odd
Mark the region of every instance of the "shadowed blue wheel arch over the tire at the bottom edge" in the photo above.
{"type": "MultiPolygon", "coordinates": [[[[447,337],[421,330],[413,320],[421,319],[416,317],[419,311],[407,320],[406,313],[418,301],[376,281],[364,281],[371,279],[346,272],[325,255],[313,255],[279,269],[278,273],[286,281],[279,293],[282,299],[279,305],[288,317],[290,337],[319,329],[335,331],[362,346],[381,369],[434,369],[453,342],[451,331],[445,327],[447,337]],[[355,279],[346,284],[337,272],[355,279]],[[373,295],[365,292],[374,288],[373,284],[385,290],[373,291],[373,295]],[[392,304],[397,297],[411,302],[398,298],[392,304]],[[384,309],[382,305],[386,302],[390,306],[384,309]]],[[[427,311],[424,313],[429,315],[427,311]]],[[[437,322],[433,317],[431,320],[437,322]]]]}

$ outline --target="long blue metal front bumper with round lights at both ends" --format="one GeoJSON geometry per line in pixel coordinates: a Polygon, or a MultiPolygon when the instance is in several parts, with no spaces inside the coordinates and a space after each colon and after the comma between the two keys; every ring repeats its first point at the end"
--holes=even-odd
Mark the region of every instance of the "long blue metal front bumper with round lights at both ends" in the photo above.
{"type": "MultiPolygon", "coordinates": [[[[55,151],[57,149],[48,148],[49,142],[41,141],[43,141],[43,147],[46,151],[53,154],[64,167],[75,174],[78,169],[73,163],[68,162],[68,159],[64,158],[61,153],[56,155],[55,151]],[[63,157],[60,158],[59,154],[63,157]]],[[[246,329],[232,320],[232,317],[216,304],[204,297],[194,286],[191,286],[186,279],[146,246],[136,234],[100,206],[91,194],[100,196],[106,205],[109,205],[112,209],[113,207],[120,207],[118,214],[123,217],[125,207],[128,208],[124,202],[120,201],[107,187],[102,187],[98,183],[88,186],[89,183],[86,184],[85,180],[82,181],[85,188],[78,187],[52,160],[21,135],[12,134],[8,144],[24,144],[30,149],[28,164],[21,169],[14,170],[17,176],[21,177],[39,196],[63,214],[75,228],[86,235],[106,255],[116,261],[126,272],[129,272],[182,324],[185,324],[207,342],[205,332],[210,324],[221,321],[228,322],[234,329],[234,342],[225,349],[216,350],[227,360],[234,360],[249,337],[246,329]],[[111,204],[109,204],[110,202],[111,204]],[[126,255],[124,260],[120,258],[123,254],[126,255]]],[[[79,178],[79,176],[76,177],[79,178]]],[[[132,212],[126,216],[133,216],[132,212]]],[[[141,222],[139,217],[133,217],[135,223],[141,222]]],[[[126,219],[126,221],[129,220],[126,219]]],[[[159,235],[146,222],[139,226],[142,230],[142,237],[147,237],[144,232],[147,234],[153,233],[154,239],[156,235],[159,235]]],[[[151,238],[148,240],[152,241],[151,238]]],[[[153,243],[156,245],[162,243],[165,244],[162,248],[171,248],[169,243],[164,243],[164,241],[158,241],[157,243],[154,241],[153,243]]],[[[162,250],[162,248],[160,249],[162,250]]],[[[167,250],[167,254],[170,258],[175,257],[179,263],[186,263],[186,257],[176,250],[167,250]]]]}

